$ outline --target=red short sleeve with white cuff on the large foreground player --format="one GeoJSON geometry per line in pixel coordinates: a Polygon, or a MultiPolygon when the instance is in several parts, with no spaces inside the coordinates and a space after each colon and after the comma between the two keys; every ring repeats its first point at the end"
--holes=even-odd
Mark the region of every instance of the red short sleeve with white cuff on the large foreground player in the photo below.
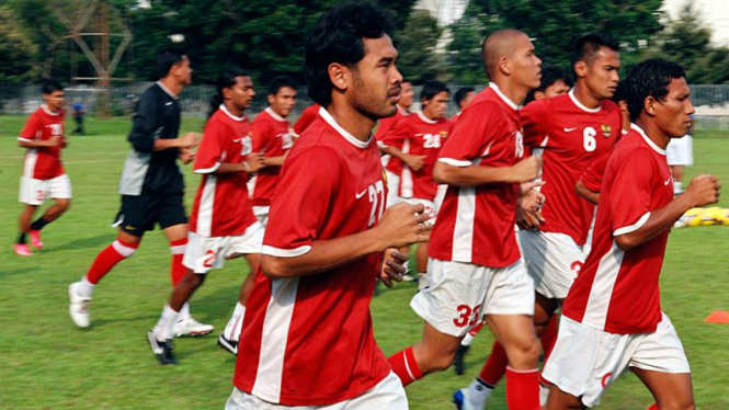
{"type": "Polygon", "coordinates": [[[337,159],[333,149],[320,146],[288,158],[271,203],[261,253],[295,258],[311,250],[340,184],[337,159]]]}

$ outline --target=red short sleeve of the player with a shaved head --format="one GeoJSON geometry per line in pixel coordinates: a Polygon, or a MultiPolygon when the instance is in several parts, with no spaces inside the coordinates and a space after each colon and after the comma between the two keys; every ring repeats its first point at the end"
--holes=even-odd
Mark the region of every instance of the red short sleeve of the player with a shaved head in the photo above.
{"type": "Polygon", "coordinates": [[[498,110],[499,105],[493,102],[466,109],[443,144],[437,160],[453,167],[469,167],[474,159],[483,157],[503,128],[498,110]]]}

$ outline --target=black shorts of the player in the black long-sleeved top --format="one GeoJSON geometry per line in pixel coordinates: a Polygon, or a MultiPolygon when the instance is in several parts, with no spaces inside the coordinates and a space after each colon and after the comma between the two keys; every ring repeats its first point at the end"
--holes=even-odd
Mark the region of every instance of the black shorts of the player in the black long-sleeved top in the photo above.
{"type": "Polygon", "coordinates": [[[187,224],[184,193],[157,194],[143,192],[140,195],[122,195],[122,207],[116,214],[114,226],[135,237],[141,237],[148,230],[187,224]]]}

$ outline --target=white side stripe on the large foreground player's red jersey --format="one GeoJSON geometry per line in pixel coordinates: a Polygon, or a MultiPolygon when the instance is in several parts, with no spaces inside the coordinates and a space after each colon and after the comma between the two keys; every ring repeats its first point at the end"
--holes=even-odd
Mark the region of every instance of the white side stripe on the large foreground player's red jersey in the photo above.
{"type": "Polygon", "coordinates": [[[298,277],[271,281],[271,299],[263,320],[259,367],[251,394],[274,403],[281,401],[281,380],[298,281],[298,277]]]}

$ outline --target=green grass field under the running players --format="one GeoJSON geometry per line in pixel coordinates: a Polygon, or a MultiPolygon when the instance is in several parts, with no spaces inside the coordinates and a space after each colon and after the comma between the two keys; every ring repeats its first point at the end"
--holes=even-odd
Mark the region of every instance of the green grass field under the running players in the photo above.
{"type": "MultiPolygon", "coordinates": [[[[216,333],[176,340],[178,366],[158,365],[147,345],[146,331],[170,293],[170,253],[160,231],[145,237],[137,254],[96,288],[90,329],[77,329],[68,317],[67,286],[115,236],[110,224],[130,122],[91,119],[88,136],[69,138],[64,161],[73,185],[71,208],[44,230],[46,248],[21,259],[12,243],[23,155],[15,136],[24,119],[0,117],[0,408],[221,409],[232,388],[235,360],[217,350],[216,333]]],[[[201,126],[200,119],[183,122],[183,130],[201,126]]],[[[710,172],[729,185],[729,132],[698,132],[694,155],[687,178],[710,172]]],[[[186,182],[190,206],[198,178],[189,168],[186,182]]],[[[726,196],[722,204],[729,206],[726,196]]],[[[729,326],[703,322],[714,310],[729,310],[727,254],[729,227],[684,228],[671,235],[663,267],[663,308],[682,337],[699,409],[729,409],[729,326]]],[[[221,330],[246,274],[242,260],[214,272],[193,299],[195,317],[221,330]]],[[[420,338],[422,323],[408,306],[414,293],[414,284],[400,284],[373,299],[375,334],[386,354],[420,338]]],[[[467,375],[448,369],[409,387],[411,409],[451,409],[452,392],[478,373],[491,342],[486,331],[476,340],[467,375]]],[[[314,365],[322,360],[311,357],[314,365]]],[[[600,408],[645,409],[651,402],[628,374],[600,408]]],[[[505,408],[502,386],[489,409],[505,408]]]]}

